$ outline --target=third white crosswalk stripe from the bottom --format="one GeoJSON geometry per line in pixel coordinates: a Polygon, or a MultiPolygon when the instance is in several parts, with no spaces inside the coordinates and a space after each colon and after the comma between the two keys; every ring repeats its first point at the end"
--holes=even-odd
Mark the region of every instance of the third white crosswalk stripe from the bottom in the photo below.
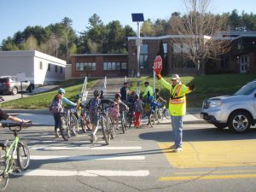
{"type": "Polygon", "coordinates": [[[139,150],[142,149],[142,147],[28,147],[32,150],[74,150],[74,149],[80,149],[80,150],[139,150]]]}

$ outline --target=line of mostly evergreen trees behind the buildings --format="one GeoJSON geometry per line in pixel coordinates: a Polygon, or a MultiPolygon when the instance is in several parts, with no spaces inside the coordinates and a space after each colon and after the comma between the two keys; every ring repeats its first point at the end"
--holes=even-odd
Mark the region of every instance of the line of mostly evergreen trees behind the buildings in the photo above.
{"type": "MultiPolygon", "coordinates": [[[[141,36],[178,34],[173,23],[192,18],[191,15],[195,15],[195,12],[191,11],[184,15],[174,12],[169,20],[145,20],[141,28],[141,36]]],[[[243,11],[240,15],[234,9],[231,13],[222,15],[207,13],[207,15],[218,21],[220,31],[256,31],[256,15],[253,13],[247,14],[243,11]]],[[[183,32],[186,30],[183,29],[183,32]]],[[[73,20],[65,17],[61,22],[46,27],[26,26],[23,32],[15,32],[13,37],[3,39],[1,49],[37,49],[69,61],[69,55],[72,54],[127,53],[127,37],[132,36],[136,36],[136,32],[131,26],[122,26],[119,20],[110,21],[105,25],[101,18],[94,14],[89,18],[84,32],[76,32],[73,29],[73,20]]]]}

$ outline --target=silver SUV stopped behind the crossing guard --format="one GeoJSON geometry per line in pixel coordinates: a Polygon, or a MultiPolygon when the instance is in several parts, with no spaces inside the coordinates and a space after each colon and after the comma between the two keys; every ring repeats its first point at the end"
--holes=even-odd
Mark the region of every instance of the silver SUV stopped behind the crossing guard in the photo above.
{"type": "Polygon", "coordinates": [[[206,99],[201,118],[219,129],[228,126],[234,132],[248,131],[256,122],[256,80],[242,86],[233,96],[206,99]]]}

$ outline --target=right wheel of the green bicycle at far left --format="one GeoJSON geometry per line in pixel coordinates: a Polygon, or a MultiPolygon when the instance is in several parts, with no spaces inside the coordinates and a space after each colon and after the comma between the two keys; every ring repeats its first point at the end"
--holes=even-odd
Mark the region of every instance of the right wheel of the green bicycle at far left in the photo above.
{"type": "Polygon", "coordinates": [[[22,171],[26,170],[26,168],[29,166],[29,163],[30,163],[30,154],[29,154],[27,145],[25,143],[18,144],[17,160],[18,160],[18,166],[20,166],[20,169],[22,171]]]}

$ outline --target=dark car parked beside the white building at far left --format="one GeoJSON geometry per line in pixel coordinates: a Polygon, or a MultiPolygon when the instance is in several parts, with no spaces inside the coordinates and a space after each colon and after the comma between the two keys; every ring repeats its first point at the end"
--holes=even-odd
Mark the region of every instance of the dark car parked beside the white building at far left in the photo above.
{"type": "Polygon", "coordinates": [[[2,76],[0,77],[0,93],[11,93],[13,95],[17,94],[19,91],[29,91],[32,93],[32,90],[35,88],[35,85],[30,81],[22,81],[22,90],[21,82],[17,81],[16,76],[2,76]]]}

